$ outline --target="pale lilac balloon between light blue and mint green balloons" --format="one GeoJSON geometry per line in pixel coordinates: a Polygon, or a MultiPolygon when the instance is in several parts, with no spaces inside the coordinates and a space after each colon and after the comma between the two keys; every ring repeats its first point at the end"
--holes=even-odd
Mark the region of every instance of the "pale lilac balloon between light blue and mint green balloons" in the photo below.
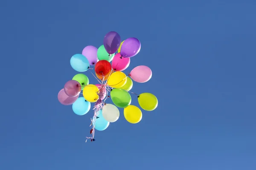
{"type": "Polygon", "coordinates": [[[95,65],[97,62],[97,51],[98,48],[93,45],[88,45],[84,47],[82,54],[88,59],[90,65],[95,65]]]}

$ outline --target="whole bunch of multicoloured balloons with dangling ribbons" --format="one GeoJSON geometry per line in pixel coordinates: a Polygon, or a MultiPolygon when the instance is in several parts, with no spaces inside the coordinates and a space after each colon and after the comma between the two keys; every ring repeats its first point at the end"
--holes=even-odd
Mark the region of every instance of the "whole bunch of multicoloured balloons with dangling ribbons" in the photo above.
{"type": "MultiPolygon", "coordinates": [[[[120,113],[117,107],[124,109],[125,119],[130,123],[135,124],[142,119],[140,108],[130,105],[131,95],[128,92],[133,86],[132,80],[140,83],[147,82],[151,79],[152,71],[147,66],[140,65],[135,67],[128,76],[122,72],[130,65],[130,58],[140,52],[140,48],[141,44],[137,38],[128,38],[121,42],[120,35],[111,31],[105,35],[103,45],[98,49],[88,45],[83,49],[82,54],[71,57],[70,65],[78,72],[93,69],[90,65],[95,65],[96,75],[91,73],[99,84],[89,84],[86,75],[76,74],[59,91],[58,101],[63,105],[72,105],[73,112],[77,115],[88,113],[91,103],[95,103],[90,124],[91,137],[86,137],[91,142],[95,141],[95,129],[105,130],[110,122],[116,122],[119,119],[120,113]],[[79,97],[79,94],[83,96],[79,97]],[[111,98],[114,105],[106,103],[108,98],[111,98]]],[[[145,111],[153,111],[157,108],[157,97],[153,94],[143,93],[137,97],[140,107],[145,111]]]]}

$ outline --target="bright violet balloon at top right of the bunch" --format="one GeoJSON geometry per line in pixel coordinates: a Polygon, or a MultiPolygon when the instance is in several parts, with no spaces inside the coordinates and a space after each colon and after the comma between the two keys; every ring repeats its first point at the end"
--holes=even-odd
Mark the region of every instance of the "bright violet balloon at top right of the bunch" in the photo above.
{"type": "Polygon", "coordinates": [[[134,57],[140,52],[141,44],[137,38],[128,38],[122,43],[121,56],[124,58],[134,57]]]}

